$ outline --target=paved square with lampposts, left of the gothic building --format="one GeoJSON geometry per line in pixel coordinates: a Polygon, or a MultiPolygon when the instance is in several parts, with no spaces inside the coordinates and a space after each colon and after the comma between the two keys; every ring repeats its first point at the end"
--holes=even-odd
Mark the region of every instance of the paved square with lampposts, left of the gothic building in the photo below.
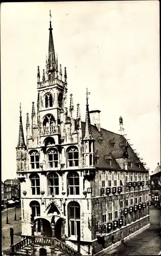
{"type": "MultiPolygon", "coordinates": [[[[2,250],[6,255],[9,255],[10,248],[10,228],[14,233],[21,233],[21,208],[16,208],[17,221],[14,221],[15,208],[8,209],[8,220],[10,224],[6,224],[6,210],[2,211],[2,250]]],[[[21,237],[14,236],[14,244],[21,241],[21,237]]]]}

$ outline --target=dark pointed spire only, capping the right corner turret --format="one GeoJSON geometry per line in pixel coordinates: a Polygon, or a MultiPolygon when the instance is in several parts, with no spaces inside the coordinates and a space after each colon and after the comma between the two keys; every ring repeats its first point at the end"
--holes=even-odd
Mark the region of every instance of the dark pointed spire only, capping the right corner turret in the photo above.
{"type": "Polygon", "coordinates": [[[86,123],[85,123],[85,135],[84,135],[84,140],[94,140],[93,136],[92,136],[92,130],[91,130],[91,121],[90,121],[90,113],[89,113],[89,104],[88,104],[88,95],[90,94],[90,92],[88,92],[87,89],[87,103],[86,103],[86,123]]]}

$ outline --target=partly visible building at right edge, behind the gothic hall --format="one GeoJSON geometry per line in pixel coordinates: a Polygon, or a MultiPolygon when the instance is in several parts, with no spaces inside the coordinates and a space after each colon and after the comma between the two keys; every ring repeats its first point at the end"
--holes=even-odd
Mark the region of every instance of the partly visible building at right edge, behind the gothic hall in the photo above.
{"type": "Polygon", "coordinates": [[[157,163],[154,172],[150,175],[150,182],[151,203],[161,206],[161,170],[159,163],[157,163]]]}

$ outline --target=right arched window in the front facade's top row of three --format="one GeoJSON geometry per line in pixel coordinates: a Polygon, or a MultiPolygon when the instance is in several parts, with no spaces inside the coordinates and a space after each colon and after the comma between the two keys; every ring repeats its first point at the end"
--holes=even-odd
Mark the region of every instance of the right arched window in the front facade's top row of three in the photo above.
{"type": "Polygon", "coordinates": [[[68,158],[68,166],[78,166],[79,164],[79,155],[78,148],[76,146],[70,146],[67,149],[67,158],[68,158]]]}

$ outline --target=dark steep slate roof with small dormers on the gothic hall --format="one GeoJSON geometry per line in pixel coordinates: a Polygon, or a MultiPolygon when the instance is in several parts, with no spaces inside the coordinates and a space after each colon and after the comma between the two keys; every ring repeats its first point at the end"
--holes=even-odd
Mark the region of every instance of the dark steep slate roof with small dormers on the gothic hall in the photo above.
{"type": "MultiPolygon", "coordinates": [[[[132,160],[132,167],[128,166],[128,170],[133,171],[140,171],[140,172],[147,172],[144,165],[139,161],[138,156],[132,150],[131,146],[128,144],[126,139],[120,135],[105,129],[101,128],[101,132],[97,130],[95,125],[91,124],[92,135],[95,139],[95,152],[97,152],[99,156],[99,164],[95,164],[98,168],[107,168],[107,169],[118,169],[120,170],[121,167],[116,161],[116,159],[123,158],[123,150],[125,143],[127,143],[127,152],[128,152],[128,159],[132,160]],[[115,142],[115,143],[114,143],[115,142]],[[114,147],[115,144],[115,147],[114,147]],[[112,165],[109,165],[109,162],[105,160],[111,156],[112,158],[112,165]],[[140,168],[136,162],[140,162],[140,168]]],[[[82,136],[84,137],[85,134],[85,122],[82,122],[82,136]]]]}

